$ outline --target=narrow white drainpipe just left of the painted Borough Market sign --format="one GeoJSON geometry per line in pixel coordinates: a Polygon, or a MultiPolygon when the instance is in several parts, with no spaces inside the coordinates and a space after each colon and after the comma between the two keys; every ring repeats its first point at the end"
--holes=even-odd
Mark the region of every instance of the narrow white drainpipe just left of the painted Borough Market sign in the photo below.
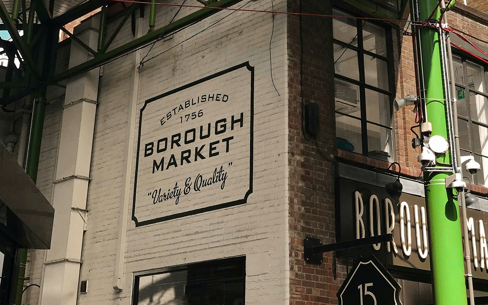
{"type": "MultiPolygon", "coordinates": [[[[142,18],[136,20],[136,39],[142,36],[142,18]]],[[[137,113],[137,101],[139,93],[139,69],[137,65],[141,61],[141,53],[134,52],[132,66],[132,99],[128,107],[129,113],[127,118],[127,133],[125,139],[125,153],[123,160],[123,168],[125,169],[125,176],[122,181],[122,194],[120,199],[120,212],[119,212],[119,232],[117,238],[117,254],[115,258],[115,270],[113,279],[113,288],[115,291],[123,290],[123,265],[125,258],[125,244],[127,239],[127,221],[128,221],[128,209],[129,209],[129,196],[130,196],[130,179],[132,177],[132,156],[134,155],[134,131],[136,128],[136,113],[137,113]]]]}

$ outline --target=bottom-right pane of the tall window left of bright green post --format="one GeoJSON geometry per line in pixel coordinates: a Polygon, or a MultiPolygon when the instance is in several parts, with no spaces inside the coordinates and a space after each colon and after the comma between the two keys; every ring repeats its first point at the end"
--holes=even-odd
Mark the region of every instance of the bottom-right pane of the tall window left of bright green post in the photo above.
{"type": "Polygon", "coordinates": [[[367,124],[367,144],[369,157],[391,161],[391,129],[367,124]]]}

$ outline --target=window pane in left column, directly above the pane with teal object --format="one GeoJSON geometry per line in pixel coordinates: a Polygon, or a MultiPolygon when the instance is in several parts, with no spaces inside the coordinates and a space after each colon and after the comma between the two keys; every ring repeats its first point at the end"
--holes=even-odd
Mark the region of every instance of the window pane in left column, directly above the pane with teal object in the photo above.
{"type": "Polygon", "coordinates": [[[335,98],[336,111],[361,117],[358,85],[335,79],[335,98]]]}

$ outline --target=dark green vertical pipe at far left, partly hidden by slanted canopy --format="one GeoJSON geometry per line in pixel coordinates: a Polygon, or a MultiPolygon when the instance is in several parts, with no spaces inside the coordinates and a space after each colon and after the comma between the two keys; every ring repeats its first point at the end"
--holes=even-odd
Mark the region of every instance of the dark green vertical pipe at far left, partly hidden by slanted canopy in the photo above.
{"type": "MultiPolygon", "coordinates": [[[[32,111],[32,125],[27,152],[27,175],[36,183],[37,170],[39,168],[39,156],[41,154],[42,129],[44,127],[44,115],[46,113],[46,89],[40,89],[34,102],[32,111]]],[[[17,271],[17,290],[14,305],[21,305],[24,288],[25,265],[27,264],[27,249],[19,249],[19,267],[17,271]]]]}

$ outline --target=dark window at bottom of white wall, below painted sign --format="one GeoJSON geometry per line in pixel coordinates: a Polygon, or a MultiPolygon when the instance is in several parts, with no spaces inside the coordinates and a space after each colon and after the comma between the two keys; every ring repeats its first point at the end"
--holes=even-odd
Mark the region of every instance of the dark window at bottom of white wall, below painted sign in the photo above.
{"type": "Polygon", "coordinates": [[[244,305],[245,257],[138,272],[133,305],[244,305]]]}

